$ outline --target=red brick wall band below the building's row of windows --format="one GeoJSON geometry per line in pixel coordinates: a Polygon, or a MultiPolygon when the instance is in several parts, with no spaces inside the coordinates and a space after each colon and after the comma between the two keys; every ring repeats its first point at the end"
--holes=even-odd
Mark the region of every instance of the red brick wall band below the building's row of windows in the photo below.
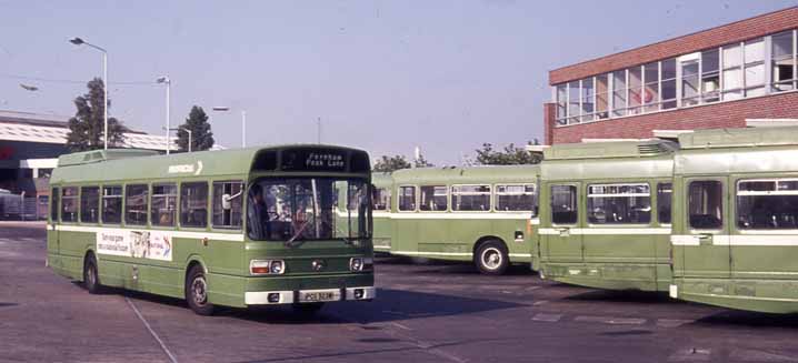
{"type": "Polygon", "coordinates": [[[555,104],[543,108],[546,144],[582,139],[646,139],[652,130],[745,128],[746,119],[798,119],[798,92],[778,93],[555,128],[555,104]]]}

